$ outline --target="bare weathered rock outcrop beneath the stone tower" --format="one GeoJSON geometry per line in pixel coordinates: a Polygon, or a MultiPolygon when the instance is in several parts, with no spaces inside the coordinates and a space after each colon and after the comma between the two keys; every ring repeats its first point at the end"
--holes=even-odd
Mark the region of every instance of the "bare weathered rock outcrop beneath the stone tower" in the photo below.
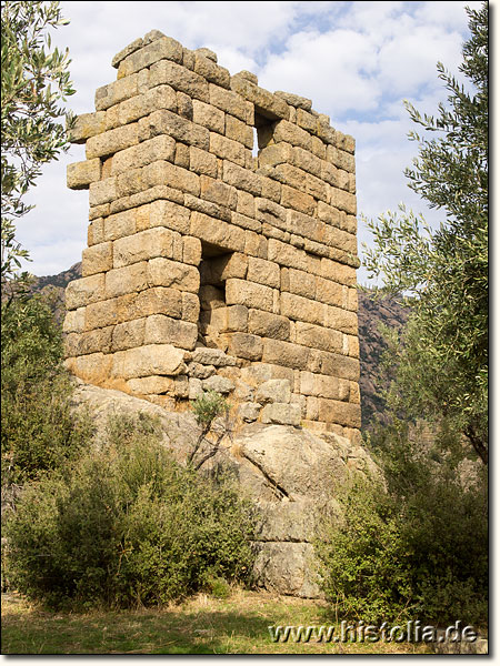
{"type": "MultiPolygon", "coordinates": [[[[142,412],[158,420],[163,444],[180,463],[186,462],[200,433],[191,411],[169,412],[121,391],[76,382],[76,407],[88,408],[97,444],[110,416],[142,412]]],[[[313,548],[317,521],[326,511],[341,511],[332,488],[348,471],[376,471],[362,446],[334,433],[320,437],[293,426],[249,423],[233,431],[229,425],[207,468],[219,463],[234,471],[242,493],[259,508],[257,584],[279,594],[319,597],[313,548]]]]}

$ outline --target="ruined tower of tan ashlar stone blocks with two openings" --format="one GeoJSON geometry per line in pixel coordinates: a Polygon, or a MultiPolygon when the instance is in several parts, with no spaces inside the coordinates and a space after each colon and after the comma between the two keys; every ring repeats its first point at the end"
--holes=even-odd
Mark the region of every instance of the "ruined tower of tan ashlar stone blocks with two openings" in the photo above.
{"type": "Polygon", "coordinates": [[[213,389],[243,421],[352,437],[353,139],[156,30],[112,65],[72,133],[87,159],[68,186],[89,189],[90,224],[68,367],[169,408],[213,389]]]}

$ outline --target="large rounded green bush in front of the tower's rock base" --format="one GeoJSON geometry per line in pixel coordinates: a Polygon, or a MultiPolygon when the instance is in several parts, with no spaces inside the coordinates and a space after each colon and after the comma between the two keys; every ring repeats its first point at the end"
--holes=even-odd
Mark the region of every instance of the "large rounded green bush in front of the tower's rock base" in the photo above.
{"type": "Polygon", "coordinates": [[[177,464],[147,417],[32,484],[10,518],[10,577],[52,606],[128,607],[249,581],[250,504],[224,473],[177,464]]]}

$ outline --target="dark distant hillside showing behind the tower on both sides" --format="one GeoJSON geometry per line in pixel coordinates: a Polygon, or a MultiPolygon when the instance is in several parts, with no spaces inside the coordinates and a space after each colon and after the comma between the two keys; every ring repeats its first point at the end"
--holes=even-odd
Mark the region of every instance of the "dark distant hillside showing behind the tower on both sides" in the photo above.
{"type": "MultiPolygon", "coordinates": [[[[76,263],[68,271],[58,275],[37,278],[33,292],[52,292],[54,311],[58,321],[63,317],[64,289],[68,282],[81,276],[81,263],[76,263]]],[[[380,324],[400,326],[408,319],[408,310],[396,299],[384,297],[373,301],[369,292],[359,291],[359,346],[361,364],[361,413],[362,427],[367,427],[374,415],[383,412],[383,401],[377,391],[377,369],[386,347],[380,333],[380,324]]]]}

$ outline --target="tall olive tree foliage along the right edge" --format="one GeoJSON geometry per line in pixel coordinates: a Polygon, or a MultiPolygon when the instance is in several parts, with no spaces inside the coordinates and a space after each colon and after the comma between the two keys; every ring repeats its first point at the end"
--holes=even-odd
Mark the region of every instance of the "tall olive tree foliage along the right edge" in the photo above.
{"type": "Polygon", "coordinates": [[[446,221],[388,212],[368,223],[374,246],[364,264],[381,291],[403,293],[412,309],[394,347],[398,382],[390,398],[410,416],[453,422],[488,461],[488,4],[467,8],[470,38],[461,73],[468,88],[438,63],[448,104],[438,115],[407,103],[419,144],[409,186],[446,221]],[[472,90],[472,92],[471,92],[472,90]]]}

